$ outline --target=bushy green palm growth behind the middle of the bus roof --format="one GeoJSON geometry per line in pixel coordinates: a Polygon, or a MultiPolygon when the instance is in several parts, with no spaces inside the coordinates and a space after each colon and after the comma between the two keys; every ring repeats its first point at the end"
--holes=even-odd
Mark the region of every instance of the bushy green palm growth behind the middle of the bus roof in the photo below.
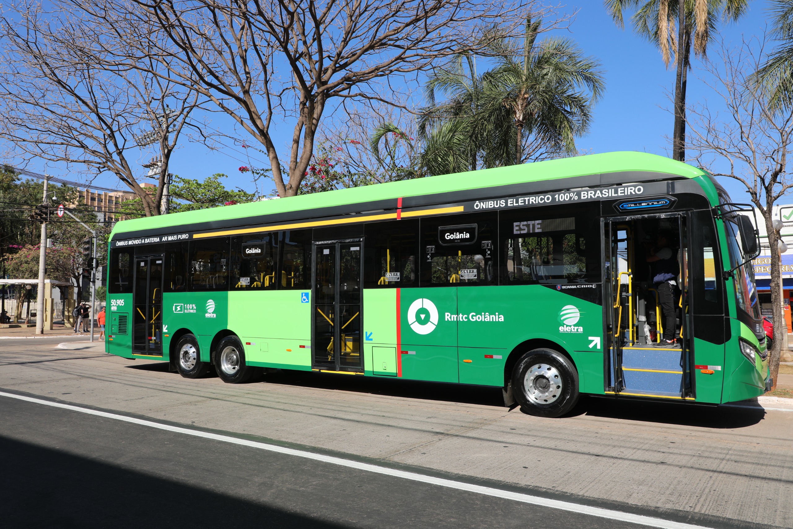
{"type": "Polygon", "coordinates": [[[496,66],[482,75],[475,57],[460,56],[431,76],[431,105],[419,118],[423,167],[431,174],[473,170],[479,160],[498,167],[576,151],[575,138],[588,130],[592,103],[603,93],[603,73],[573,41],[537,43],[540,23],[527,19],[523,43],[494,38],[496,66]],[[450,97],[436,103],[435,91],[450,97]]]}

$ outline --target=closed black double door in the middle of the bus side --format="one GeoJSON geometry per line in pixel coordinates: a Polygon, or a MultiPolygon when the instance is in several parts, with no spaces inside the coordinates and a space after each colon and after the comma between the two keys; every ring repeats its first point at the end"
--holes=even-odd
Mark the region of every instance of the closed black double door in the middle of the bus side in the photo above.
{"type": "Polygon", "coordinates": [[[362,241],[314,245],[312,368],[363,372],[362,241]]]}

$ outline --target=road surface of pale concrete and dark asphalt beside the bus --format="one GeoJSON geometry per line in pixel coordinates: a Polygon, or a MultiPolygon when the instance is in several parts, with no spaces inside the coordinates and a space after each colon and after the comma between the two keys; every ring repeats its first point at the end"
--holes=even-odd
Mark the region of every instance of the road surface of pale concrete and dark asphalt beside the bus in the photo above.
{"type": "MultiPolygon", "coordinates": [[[[0,342],[0,391],[703,527],[793,526],[793,411],[589,400],[538,419],[485,388],[233,386],[58,341],[0,342]]],[[[6,527],[640,527],[4,396],[0,454],[6,527]]]]}

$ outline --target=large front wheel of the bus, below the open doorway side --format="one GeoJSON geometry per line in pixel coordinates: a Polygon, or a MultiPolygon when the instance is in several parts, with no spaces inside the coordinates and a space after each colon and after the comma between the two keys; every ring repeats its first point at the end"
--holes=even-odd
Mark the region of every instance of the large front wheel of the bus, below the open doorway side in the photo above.
{"type": "Polygon", "coordinates": [[[578,371],[554,349],[534,349],[515,364],[512,390],[523,413],[559,417],[578,402],[578,371]]]}

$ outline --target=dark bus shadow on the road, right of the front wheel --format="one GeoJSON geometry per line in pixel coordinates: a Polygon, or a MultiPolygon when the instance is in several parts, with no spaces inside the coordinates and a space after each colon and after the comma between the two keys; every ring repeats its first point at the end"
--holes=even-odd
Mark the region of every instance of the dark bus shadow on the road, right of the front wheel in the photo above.
{"type": "Polygon", "coordinates": [[[745,428],[760,423],[762,407],[705,406],[702,404],[653,402],[628,398],[587,396],[570,415],[591,415],[643,423],[727,429],[745,428]]]}

